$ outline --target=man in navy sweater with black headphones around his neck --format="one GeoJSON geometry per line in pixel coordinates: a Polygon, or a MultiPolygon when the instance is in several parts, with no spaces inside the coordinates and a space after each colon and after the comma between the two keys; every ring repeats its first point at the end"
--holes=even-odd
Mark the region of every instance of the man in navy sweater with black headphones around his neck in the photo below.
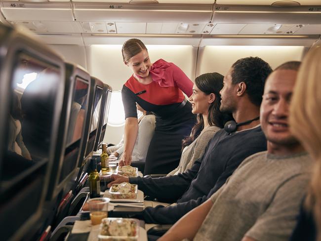
{"type": "Polygon", "coordinates": [[[114,183],[138,184],[145,195],[176,205],[146,207],[146,223],[173,224],[193,208],[210,198],[250,155],[266,150],[266,139],[259,126],[258,116],[264,82],[272,72],[268,63],[258,57],[236,61],[224,78],[221,90],[221,109],[233,114],[239,125],[230,133],[215,133],[203,157],[184,173],[161,178],[127,178],[113,175],[114,183]]]}

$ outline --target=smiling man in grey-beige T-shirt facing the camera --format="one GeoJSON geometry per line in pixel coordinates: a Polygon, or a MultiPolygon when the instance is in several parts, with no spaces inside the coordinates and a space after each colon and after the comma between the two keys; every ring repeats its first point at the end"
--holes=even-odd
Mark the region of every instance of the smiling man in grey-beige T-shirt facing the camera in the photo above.
{"type": "Polygon", "coordinates": [[[289,239],[313,164],[288,126],[299,64],[281,65],[265,84],[260,121],[267,151],[244,160],[224,186],[179,220],[160,241],[289,239]]]}

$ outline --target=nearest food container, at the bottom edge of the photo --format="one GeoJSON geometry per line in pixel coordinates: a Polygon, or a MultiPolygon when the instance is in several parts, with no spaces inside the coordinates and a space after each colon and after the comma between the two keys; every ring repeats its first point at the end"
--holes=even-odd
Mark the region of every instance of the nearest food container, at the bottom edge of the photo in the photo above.
{"type": "Polygon", "coordinates": [[[138,241],[139,222],[132,218],[104,218],[98,239],[103,241],[138,241]]]}

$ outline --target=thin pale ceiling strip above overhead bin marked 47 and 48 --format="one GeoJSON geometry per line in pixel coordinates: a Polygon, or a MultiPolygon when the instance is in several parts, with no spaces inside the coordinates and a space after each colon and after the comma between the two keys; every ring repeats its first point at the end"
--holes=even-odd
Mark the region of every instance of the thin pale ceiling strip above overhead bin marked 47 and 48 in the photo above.
{"type": "MultiPolygon", "coordinates": [[[[234,5],[272,5],[278,0],[216,0],[216,4],[234,4],[234,5]]],[[[295,4],[299,2],[301,5],[321,5],[320,0],[283,0],[279,1],[280,4],[295,4]]]]}

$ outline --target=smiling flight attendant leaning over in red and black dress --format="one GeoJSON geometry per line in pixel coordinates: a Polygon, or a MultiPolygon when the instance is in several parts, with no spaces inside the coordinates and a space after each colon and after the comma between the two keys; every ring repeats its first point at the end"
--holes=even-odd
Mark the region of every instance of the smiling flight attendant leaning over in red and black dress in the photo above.
{"type": "Polygon", "coordinates": [[[125,111],[124,154],[120,165],[131,163],[138,123],[136,102],[156,116],[155,133],[145,161],[144,175],[168,173],[177,167],[182,140],[196,122],[190,97],[193,82],[173,63],[159,59],[151,64],[146,46],[141,40],[127,40],[121,49],[124,64],[133,75],[122,87],[125,111]]]}

